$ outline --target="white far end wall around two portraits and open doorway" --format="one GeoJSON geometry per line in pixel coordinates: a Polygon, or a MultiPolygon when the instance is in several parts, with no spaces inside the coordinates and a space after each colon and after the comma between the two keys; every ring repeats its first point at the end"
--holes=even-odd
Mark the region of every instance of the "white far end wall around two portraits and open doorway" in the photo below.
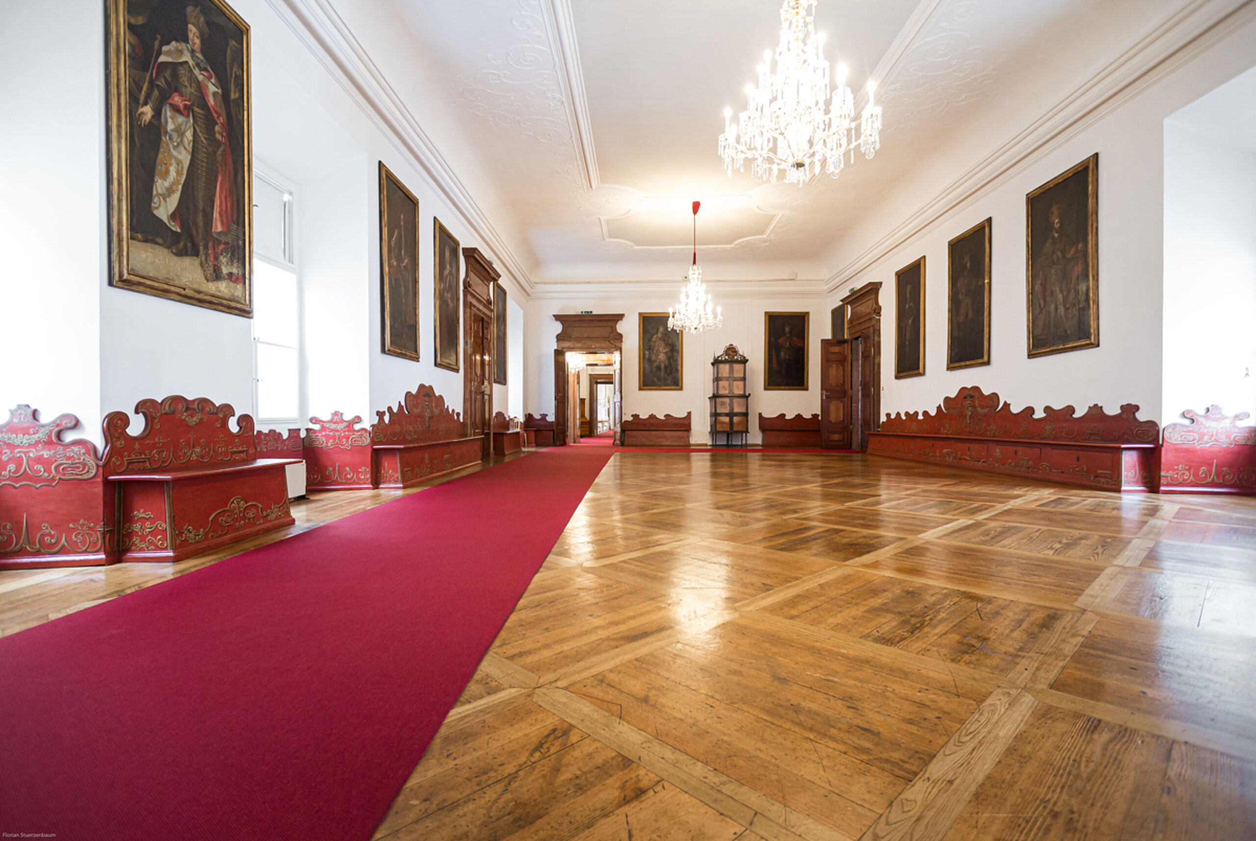
{"type": "Polygon", "coordinates": [[[735,291],[707,284],[707,291],[715,303],[723,308],[723,326],[697,335],[685,335],[685,358],[682,363],[683,385],[678,392],[643,392],[638,388],[638,314],[666,313],[674,306],[681,294],[682,284],[676,282],[673,292],[667,296],[658,294],[623,297],[619,300],[538,300],[533,301],[530,320],[540,339],[528,348],[528,367],[535,378],[534,387],[526,398],[528,412],[546,413],[554,417],[554,346],[561,325],[554,320],[555,313],[623,313],[619,333],[624,336],[622,377],[623,377],[623,417],[633,414],[683,415],[692,412],[692,443],[710,441],[711,360],[726,345],[735,344],[749,356],[747,388],[750,390],[750,442],[760,441],[759,413],[776,415],[785,413],[810,415],[820,410],[820,340],[829,338],[829,309],[820,294],[786,295],[776,297],[760,294],[737,295],[735,291]],[[793,311],[810,313],[810,340],[808,354],[808,390],[805,392],[766,392],[764,390],[764,313],[793,311]]]}

